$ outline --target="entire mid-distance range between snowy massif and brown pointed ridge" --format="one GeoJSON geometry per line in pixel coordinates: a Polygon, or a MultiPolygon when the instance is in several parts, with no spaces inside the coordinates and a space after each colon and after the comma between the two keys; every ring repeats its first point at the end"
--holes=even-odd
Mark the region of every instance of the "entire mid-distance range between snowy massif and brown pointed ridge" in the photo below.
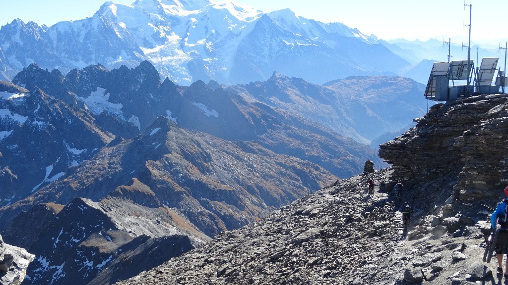
{"type": "MultiPolygon", "coordinates": [[[[65,77],[57,69],[49,72],[31,64],[13,80],[17,86],[24,86],[25,93],[5,91],[0,102],[9,113],[2,117],[5,138],[1,141],[0,152],[5,155],[6,163],[5,174],[0,178],[17,189],[17,193],[6,193],[0,199],[6,205],[29,196],[63,175],[68,167],[97,154],[114,138],[132,138],[160,116],[180,127],[227,140],[257,140],[272,152],[311,161],[339,177],[360,172],[362,163],[369,158],[376,167],[381,167],[383,163],[374,157],[373,150],[333,130],[356,133],[360,138],[362,135],[371,137],[384,129],[397,127],[399,121],[409,121],[424,113],[420,97],[417,97],[420,85],[401,78],[384,79],[392,83],[378,85],[379,79],[370,77],[345,82],[347,86],[364,86],[372,96],[379,92],[383,100],[387,100],[385,103],[405,104],[401,106],[405,111],[398,112],[404,115],[377,114],[379,108],[372,102],[372,96],[362,97],[359,93],[350,96],[346,87],[337,87],[338,82],[319,86],[276,74],[270,81],[246,86],[228,87],[198,81],[184,87],[168,79],[161,81],[148,61],[131,69],[123,66],[108,70],[102,65],[91,65],[72,70],[65,77]],[[404,91],[394,97],[393,86],[400,86],[404,91]],[[26,92],[28,90],[31,92],[26,92]],[[384,92],[387,94],[383,95],[384,92]],[[30,103],[22,103],[25,101],[30,103]],[[364,107],[353,110],[351,105],[356,102],[364,107]],[[309,110],[315,107],[305,106],[314,103],[326,112],[315,112],[321,115],[311,116],[309,110]],[[366,118],[370,118],[366,124],[369,129],[364,130],[360,126],[365,125],[366,118]],[[23,123],[21,127],[17,127],[20,123],[23,123]],[[343,128],[350,123],[351,126],[343,128]],[[384,127],[372,128],[377,125],[384,127]],[[56,131],[60,127],[65,131],[56,131]],[[71,132],[83,135],[70,136],[71,132]],[[31,139],[36,144],[28,147],[34,148],[33,154],[21,156],[9,148],[25,144],[22,137],[44,139],[31,139]],[[51,148],[47,148],[46,141],[53,141],[51,148]],[[44,157],[31,157],[40,154],[44,157]],[[9,167],[11,162],[27,159],[29,161],[19,163],[24,169],[9,167]]],[[[14,86],[8,87],[8,84],[12,85],[6,82],[4,89],[14,86]]]]}

